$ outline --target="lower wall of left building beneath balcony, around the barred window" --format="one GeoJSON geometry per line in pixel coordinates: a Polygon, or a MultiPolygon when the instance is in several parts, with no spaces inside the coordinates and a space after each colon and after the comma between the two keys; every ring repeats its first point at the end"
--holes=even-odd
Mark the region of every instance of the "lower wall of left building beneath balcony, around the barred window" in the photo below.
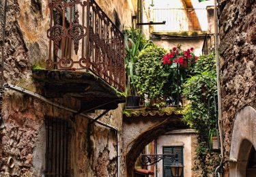
{"type": "MultiPolygon", "coordinates": [[[[45,117],[70,120],[72,114],[15,91],[6,91],[4,100],[5,129],[0,132],[0,176],[42,176],[46,143],[45,117]],[[14,159],[14,167],[8,165],[10,157],[14,159]]],[[[122,106],[106,114],[102,120],[121,130],[122,106]]],[[[82,116],[76,116],[70,122],[72,176],[115,176],[115,131],[100,125],[89,126],[89,119],[82,116]]]]}

